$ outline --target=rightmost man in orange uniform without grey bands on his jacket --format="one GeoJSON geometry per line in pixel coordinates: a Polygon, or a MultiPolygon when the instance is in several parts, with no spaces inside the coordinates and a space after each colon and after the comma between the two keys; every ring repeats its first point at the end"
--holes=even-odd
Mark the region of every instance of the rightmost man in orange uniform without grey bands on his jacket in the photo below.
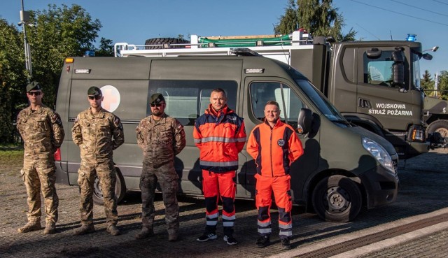
{"type": "Polygon", "coordinates": [[[272,233],[269,209],[272,192],[279,209],[279,237],[283,249],[290,249],[293,235],[290,194],[290,164],[303,154],[302,143],[293,127],[280,121],[279,103],[267,101],[265,122],[258,124],[249,135],[246,150],[255,159],[255,206],[258,210],[258,248],[269,245],[272,233]]]}

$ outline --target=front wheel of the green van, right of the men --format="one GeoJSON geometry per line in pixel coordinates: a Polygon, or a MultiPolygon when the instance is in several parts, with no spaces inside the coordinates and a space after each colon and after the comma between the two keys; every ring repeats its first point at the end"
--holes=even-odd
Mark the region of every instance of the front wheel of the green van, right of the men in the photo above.
{"type": "Polygon", "coordinates": [[[356,182],[343,175],[332,175],[318,182],[312,202],[323,220],[349,222],[358,216],[363,200],[356,182]]]}

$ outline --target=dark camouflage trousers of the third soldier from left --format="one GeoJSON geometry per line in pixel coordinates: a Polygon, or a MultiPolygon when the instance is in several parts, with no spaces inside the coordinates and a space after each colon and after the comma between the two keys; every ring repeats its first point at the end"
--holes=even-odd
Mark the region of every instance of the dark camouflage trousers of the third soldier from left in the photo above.
{"type": "Polygon", "coordinates": [[[143,227],[153,228],[155,217],[154,194],[157,185],[162,190],[165,204],[165,222],[168,232],[176,233],[179,229],[179,204],[177,191],[179,175],[174,170],[174,162],[168,162],[155,168],[153,163],[144,160],[140,177],[141,189],[141,222],[143,227]]]}

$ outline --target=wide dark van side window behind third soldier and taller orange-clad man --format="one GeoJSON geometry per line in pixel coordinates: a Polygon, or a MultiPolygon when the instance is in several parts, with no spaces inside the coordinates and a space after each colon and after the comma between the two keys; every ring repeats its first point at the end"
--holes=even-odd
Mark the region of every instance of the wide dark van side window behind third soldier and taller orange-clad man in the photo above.
{"type": "MultiPolygon", "coordinates": [[[[228,106],[236,109],[237,82],[230,80],[150,80],[148,97],[159,92],[165,97],[165,113],[185,125],[194,125],[197,117],[209,107],[211,91],[224,89],[228,106]]],[[[151,114],[151,108],[146,110],[151,114]]]]}

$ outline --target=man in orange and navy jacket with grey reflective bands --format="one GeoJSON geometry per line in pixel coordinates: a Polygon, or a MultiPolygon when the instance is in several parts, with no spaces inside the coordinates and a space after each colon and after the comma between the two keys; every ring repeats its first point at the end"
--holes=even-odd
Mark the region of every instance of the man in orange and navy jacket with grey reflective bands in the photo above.
{"type": "Polygon", "coordinates": [[[236,245],[235,224],[236,171],[238,153],[246,143],[244,121],[227,106],[227,96],[221,88],[211,92],[209,108],[197,118],[193,138],[200,149],[202,191],[206,206],[206,227],[197,241],[216,239],[218,201],[223,203],[224,241],[236,245]]]}

